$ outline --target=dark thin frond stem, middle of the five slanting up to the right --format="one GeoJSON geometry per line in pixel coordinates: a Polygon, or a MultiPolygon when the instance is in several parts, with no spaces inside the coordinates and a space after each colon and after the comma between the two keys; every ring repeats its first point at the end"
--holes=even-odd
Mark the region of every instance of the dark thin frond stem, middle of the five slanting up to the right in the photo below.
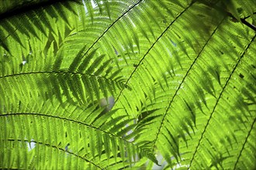
{"type": "Polygon", "coordinates": [[[190,65],[189,70],[185,73],[185,76],[183,77],[182,82],[179,83],[179,86],[178,86],[177,90],[175,90],[175,94],[174,94],[173,97],[171,98],[171,101],[170,101],[170,103],[168,104],[168,107],[167,107],[167,109],[166,109],[166,111],[165,111],[165,113],[164,113],[164,116],[163,116],[162,120],[161,120],[160,127],[158,128],[158,131],[157,131],[157,136],[156,136],[156,138],[155,138],[155,140],[154,140],[154,145],[156,145],[157,138],[158,138],[158,136],[159,136],[159,134],[160,134],[160,132],[161,132],[161,128],[163,127],[165,117],[167,116],[168,110],[171,108],[171,104],[172,104],[173,101],[175,100],[175,97],[177,97],[178,91],[181,89],[182,84],[185,82],[185,79],[186,79],[186,77],[189,75],[190,70],[192,70],[192,67],[195,66],[195,63],[196,63],[196,61],[199,59],[199,56],[201,56],[202,52],[204,51],[204,49],[206,48],[206,46],[209,44],[209,40],[212,39],[214,33],[216,32],[216,30],[219,28],[219,26],[221,25],[221,23],[222,23],[225,19],[226,19],[226,17],[224,17],[224,18],[221,20],[221,22],[219,23],[219,25],[216,26],[216,28],[213,30],[212,34],[209,36],[209,39],[207,39],[207,41],[206,41],[206,43],[204,44],[204,46],[202,46],[201,51],[200,51],[199,54],[195,57],[193,63],[190,65]]]}

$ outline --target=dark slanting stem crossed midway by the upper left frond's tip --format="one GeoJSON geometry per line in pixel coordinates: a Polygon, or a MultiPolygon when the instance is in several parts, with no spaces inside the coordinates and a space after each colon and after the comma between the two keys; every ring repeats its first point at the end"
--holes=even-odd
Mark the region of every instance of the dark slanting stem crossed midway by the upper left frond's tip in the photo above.
{"type": "MultiPolygon", "coordinates": [[[[173,23],[175,23],[177,21],[177,19],[185,12],[187,11],[188,8],[190,8],[192,5],[194,4],[194,2],[192,2],[189,6],[187,6],[179,15],[177,15],[177,17],[170,23],[170,25],[168,27],[166,27],[166,29],[164,29],[164,31],[161,33],[160,36],[157,37],[157,39],[154,41],[154,43],[152,43],[152,45],[150,46],[149,49],[147,49],[147,52],[144,54],[144,56],[140,59],[139,63],[136,64],[134,70],[132,73],[130,73],[130,76],[128,77],[128,79],[126,80],[126,85],[127,83],[130,81],[130,79],[132,78],[133,74],[137,71],[138,67],[140,66],[140,64],[144,61],[145,57],[147,56],[147,54],[150,52],[151,49],[153,49],[154,45],[158,42],[159,39],[161,39],[162,36],[164,36],[164,33],[168,31],[168,29],[170,29],[170,27],[172,26],[173,23]]],[[[119,95],[116,97],[116,102],[119,100],[119,97],[122,95],[123,90],[125,88],[123,88],[122,90],[120,90],[119,95]]]]}

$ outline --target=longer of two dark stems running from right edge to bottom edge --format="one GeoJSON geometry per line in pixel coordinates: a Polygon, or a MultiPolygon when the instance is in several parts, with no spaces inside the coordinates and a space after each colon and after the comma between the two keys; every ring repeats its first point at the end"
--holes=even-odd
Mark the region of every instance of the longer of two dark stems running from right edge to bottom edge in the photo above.
{"type": "Polygon", "coordinates": [[[211,112],[211,114],[210,114],[210,116],[209,116],[209,119],[208,119],[208,121],[207,121],[207,123],[206,123],[206,126],[205,126],[204,130],[202,131],[202,134],[201,134],[201,137],[200,137],[200,139],[199,139],[198,145],[196,146],[195,151],[194,151],[193,156],[192,156],[192,159],[191,159],[191,161],[190,161],[190,163],[189,163],[189,168],[190,168],[191,165],[192,165],[192,162],[193,162],[193,160],[194,160],[194,158],[195,158],[195,154],[196,154],[196,152],[198,151],[199,145],[201,144],[203,135],[206,133],[206,129],[208,128],[209,122],[211,121],[211,119],[212,119],[212,117],[213,117],[213,114],[215,113],[214,111],[215,111],[217,105],[219,104],[220,98],[222,97],[222,94],[223,94],[223,92],[225,91],[225,89],[226,89],[226,87],[227,87],[227,84],[229,83],[231,77],[233,76],[235,70],[237,69],[237,66],[239,65],[241,59],[244,58],[244,54],[246,53],[247,49],[249,49],[249,47],[251,46],[251,43],[254,41],[255,37],[256,37],[256,34],[255,34],[254,37],[251,39],[251,42],[249,43],[249,45],[247,46],[247,48],[244,49],[244,53],[240,56],[240,59],[237,61],[237,64],[234,66],[234,69],[233,69],[232,72],[230,73],[230,76],[228,77],[228,79],[227,79],[225,85],[223,86],[223,89],[221,90],[220,95],[219,95],[219,97],[218,97],[217,100],[216,100],[216,104],[215,104],[214,107],[213,107],[213,111],[211,112]]]}

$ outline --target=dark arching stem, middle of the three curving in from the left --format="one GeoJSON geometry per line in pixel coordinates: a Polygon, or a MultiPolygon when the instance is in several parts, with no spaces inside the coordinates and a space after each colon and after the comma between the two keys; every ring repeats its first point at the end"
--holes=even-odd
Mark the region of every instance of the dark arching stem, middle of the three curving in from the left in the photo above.
{"type": "Polygon", "coordinates": [[[69,118],[66,118],[66,117],[57,117],[57,116],[49,115],[49,114],[34,114],[34,113],[33,114],[32,113],[1,114],[0,117],[2,117],[2,116],[20,116],[20,115],[22,115],[22,116],[36,115],[36,116],[42,116],[42,117],[53,117],[53,118],[61,119],[61,120],[64,120],[64,121],[71,121],[71,122],[74,122],[74,123],[77,123],[77,124],[83,124],[83,125],[85,125],[85,126],[87,126],[89,128],[93,128],[93,129],[95,129],[97,131],[102,131],[105,134],[109,134],[112,137],[121,139],[123,141],[126,141],[126,142],[130,143],[131,145],[134,145],[133,142],[127,141],[125,138],[121,138],[121,137],[117,136],[116,134],[110,133],[109,131],[104,131],[101,128],[97,128],[95,126],[92,126],[92,124],[86,124],[85,122],[72,120],[72,119],[69,119],[69,118]]]}

